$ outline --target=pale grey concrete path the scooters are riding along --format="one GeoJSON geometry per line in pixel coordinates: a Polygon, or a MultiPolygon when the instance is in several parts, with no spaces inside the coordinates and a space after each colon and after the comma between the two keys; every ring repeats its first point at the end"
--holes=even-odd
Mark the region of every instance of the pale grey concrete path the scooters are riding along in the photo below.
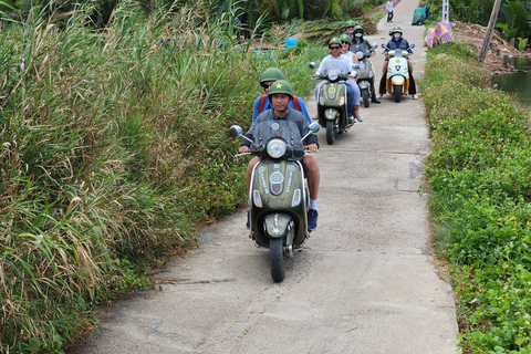
{"type": "MultiPolygon", "coordinates": [[[[402,0],[394,23],[383,19],[369,41],[381,45],[400,25],[417,44],[420,77],[416,6],[402,0]]],[[[427,251],[426,199],[416,192],[429,143],[421,101],[396,104],[386,95],[362,114],[366,122],[332,146],[319,133],[319,228],[288,261],[282,283],[272,282],[269,254],[254,248],[239,211],[173,260],[158,275],[160,289],[105,309],[101,332],[71,353],[459,352],[452,291],[427,251]]]]}

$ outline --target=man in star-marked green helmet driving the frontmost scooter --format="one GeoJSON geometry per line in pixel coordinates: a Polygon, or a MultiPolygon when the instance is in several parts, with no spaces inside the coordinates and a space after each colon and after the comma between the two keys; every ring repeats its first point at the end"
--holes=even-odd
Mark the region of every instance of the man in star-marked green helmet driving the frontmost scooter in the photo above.
{"type": "MultiPolygon", "coordinates": [[[[252,140],[257,123],[267,122],[267,121],[277,121],[277,119],[289,119],[295,122],[300,128],[301,136],[308,134],[310,124],[308,119],[302,115],[301,112],[289,108],[290,102],[293,100],[293,90],[291,85],[284,81],[275,81],[271,88],[269,90],[269,100],[273,105],[273,110],[264,111],[261,113],[258,118],[252,123],[249,131],[246,133],[246,137],[252,140]]],[[[319,148],[319,139],[314,134],[310,134],[304,139],[304,147],[310,152],[316,152],[319,148]]],[[[238,153],[244,154],[249,153],[251,143],[247,139],[241,140],[240,148],[238,153]]],[[[253,157],[247,168],[247,190],[249,190],[251,184],[251,176],[254,166],[260,162],[260,157],[253,157]]],[[[321,180],[321,175],[319,171],[317,159],[313,155],[304,155],[302,158],[302,165],[304,167],[305,175],[308,177],[308,188],[310,189],[310,209],[308,210],[308,228],[309,230],[315,230],[317,228],[317,196],[319,196],[319,184],[321,180]]],[[[249,218],[249,216],[248,216],[249,218]]],[[[249,219],[247,227],[249,228],[249,219]]]]}

